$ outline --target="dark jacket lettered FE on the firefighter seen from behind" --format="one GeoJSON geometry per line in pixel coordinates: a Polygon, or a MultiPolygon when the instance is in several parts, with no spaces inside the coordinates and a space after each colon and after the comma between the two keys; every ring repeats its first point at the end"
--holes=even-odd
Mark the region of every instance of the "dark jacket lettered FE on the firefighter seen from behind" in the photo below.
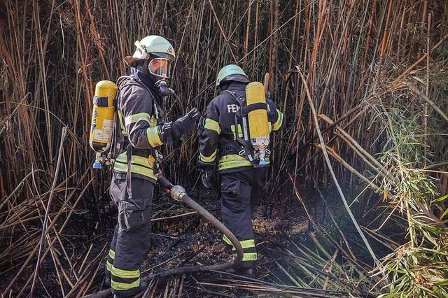
{"type": "MultiPolygon", "coordinates": [[[[237,97],[246,96],[247,83],[233,81],[228,91],[235,92],[237,97]]],[[[267,118],[272,132],[283,127],[283,113],[276,108],[274,102],[266,99],[269,109],[267,118]]],[[[218,171],[231,173],[242,171],[252,166],[246,157],[239,156],[235,150],[235,113],[239,105],[228,92],[223,92],[212,99],[204,116],[204,127],[200,135],[199,166],[201,169],[213,169],[218,157],[218,171]],[[233,141],[232,141],[233,140],[233,141]]],[[[238,119],[238,132],[242,137],[241,118],[238,119]]],[[[269,159],[266,159],[269,164],[269,159]]]]}

